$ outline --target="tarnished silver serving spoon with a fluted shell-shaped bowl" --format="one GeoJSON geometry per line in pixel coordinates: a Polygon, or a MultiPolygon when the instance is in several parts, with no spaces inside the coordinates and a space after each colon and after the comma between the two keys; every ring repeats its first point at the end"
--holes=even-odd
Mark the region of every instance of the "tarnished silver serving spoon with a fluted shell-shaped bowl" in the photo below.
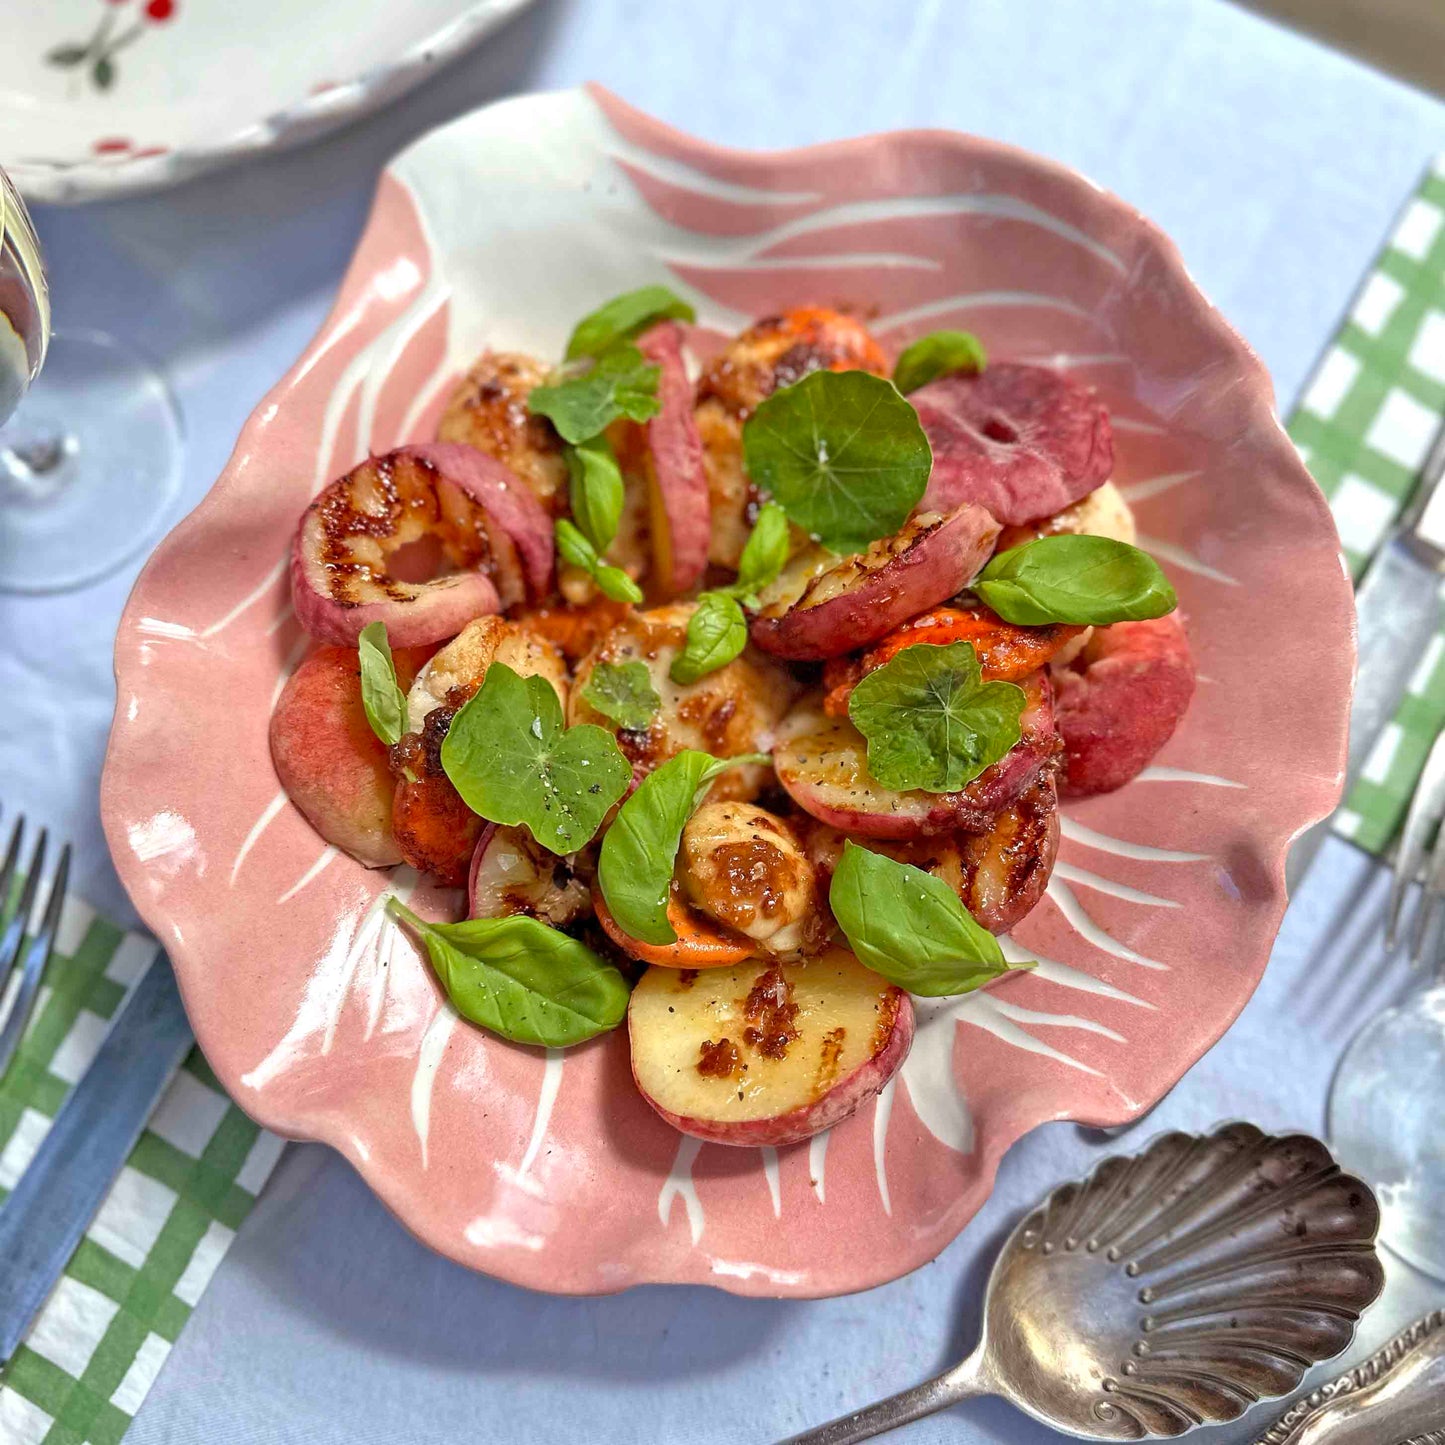
{"type": "Polygon", "coordinates": [[[1237,1419],[1350,1344],[1384,1285],[1379,1225],[1305,1134],[1165,1134],[1023,1220],[962,1364],[786,1445],[848,1445],[977,1394],[1085,1439],[1237,1419]]]}

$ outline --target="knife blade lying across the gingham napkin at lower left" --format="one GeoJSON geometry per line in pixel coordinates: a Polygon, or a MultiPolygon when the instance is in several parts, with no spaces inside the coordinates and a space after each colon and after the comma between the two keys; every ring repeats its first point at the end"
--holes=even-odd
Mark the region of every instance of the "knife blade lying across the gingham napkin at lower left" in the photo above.
{"type": "Polygon", "coordinates": [[[0,1364],[29,1332],[192,1042],[171,961],[156,948],[0,1207],[0,1364]]]}

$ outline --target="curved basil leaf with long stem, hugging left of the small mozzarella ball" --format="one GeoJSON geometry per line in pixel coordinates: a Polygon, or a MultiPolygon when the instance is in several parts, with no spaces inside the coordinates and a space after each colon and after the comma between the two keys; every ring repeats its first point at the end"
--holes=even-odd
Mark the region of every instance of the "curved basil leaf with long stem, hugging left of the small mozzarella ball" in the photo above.
{"type": "Polygon", "coordinates": [[[653,769],[621,805],[603,838],[597,883],[618,926],[644,944],[675,944],[668,892],[682,829],[720,773],[743,763],[766,763],[763,753],[712,757],[683,749],[653,769]]]}

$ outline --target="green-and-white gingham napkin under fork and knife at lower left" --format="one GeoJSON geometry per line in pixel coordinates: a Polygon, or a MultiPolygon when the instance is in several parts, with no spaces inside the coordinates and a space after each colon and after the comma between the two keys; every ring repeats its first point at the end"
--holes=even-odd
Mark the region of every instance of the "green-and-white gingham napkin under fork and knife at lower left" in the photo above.
{"type": "MultiPolygon", "coordinates": [[[[66,899],[30,1027],[0,1081],[0,1199],[155,952],[155,939],[66,899]]],[[[280,1149],[192,1049],[0,1371],[0,1442],[114,1445],[126,1433],[280,1149]]]]}

